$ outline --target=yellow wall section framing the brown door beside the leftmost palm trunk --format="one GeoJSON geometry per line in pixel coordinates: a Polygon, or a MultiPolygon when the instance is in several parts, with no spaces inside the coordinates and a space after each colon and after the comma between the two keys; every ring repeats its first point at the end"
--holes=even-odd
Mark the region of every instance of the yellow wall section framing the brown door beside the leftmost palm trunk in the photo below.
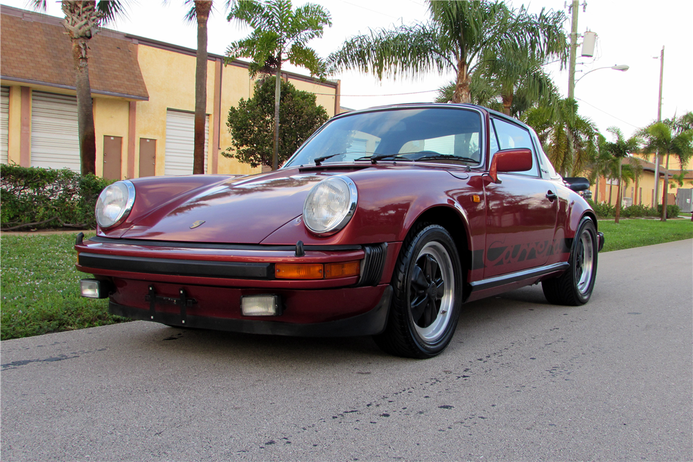
{"type": "Polygon", "coordinates": [[[120,136],[121,178],[128,177],[128,118],[130,102],[116,98],[94,98],[96,132],[96,175],[103,175],[103,137],[120,136]]]}

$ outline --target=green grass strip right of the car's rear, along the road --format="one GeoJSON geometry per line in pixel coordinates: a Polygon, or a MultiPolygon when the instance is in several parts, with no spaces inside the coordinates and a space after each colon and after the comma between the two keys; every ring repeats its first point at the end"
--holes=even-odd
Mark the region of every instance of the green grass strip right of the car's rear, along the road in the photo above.
{"type": "Polygon", "coordinates": [[[619,224],[613,220],[599,220],[598,228],[604,233],[605,252],[693,238],[693,222],[690,220],[660,222],[633,218],[622,219],[619,224]]]}

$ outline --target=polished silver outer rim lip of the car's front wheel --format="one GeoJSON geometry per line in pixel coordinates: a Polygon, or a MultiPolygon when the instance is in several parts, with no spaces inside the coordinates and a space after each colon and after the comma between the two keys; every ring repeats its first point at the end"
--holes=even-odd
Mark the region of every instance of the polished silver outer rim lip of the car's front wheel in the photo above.
{"type": "Polygon", "coordinates": [[[455,303],[455,274],[453,272],[453,261],[450,258],[450,254],[440,242],[428,242],[423,249],[421,249],[419,255],[416,256],[416,259],[414,259],[414,265],[416,265],[416,262],[418,262],[421,257],[426,255],[430,255],[436,260],[440,268],[441,278],[445,283],[440,308],[435,320],[424,328],[416,324],[412,317],[411,309],[409,315],[412,317],[412,325],[416,329],[416,333],[419,337],[428,343],[434,343],[445,335],[448,324],[450,323],[450,317],[452,316],[453,305],[455,303]]]}

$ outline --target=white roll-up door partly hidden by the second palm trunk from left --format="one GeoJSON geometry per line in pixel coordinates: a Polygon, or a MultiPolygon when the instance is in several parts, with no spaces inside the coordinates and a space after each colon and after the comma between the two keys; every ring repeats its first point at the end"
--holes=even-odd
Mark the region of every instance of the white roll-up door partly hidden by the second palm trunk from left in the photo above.
{"type": "MultiPolygon", "coordinates": [[[[204,123],[204,171],[207,172],[209,116],[204,123]]],[[[195,114],[166,111],[164,175],[192,175],[195,150],[195,114]]]]}

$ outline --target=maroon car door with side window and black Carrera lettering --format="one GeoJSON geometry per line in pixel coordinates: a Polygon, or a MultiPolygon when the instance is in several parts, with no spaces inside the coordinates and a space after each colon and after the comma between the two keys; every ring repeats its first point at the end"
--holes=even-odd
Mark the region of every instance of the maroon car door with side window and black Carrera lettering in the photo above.
{"type": "Polygon", "coordinates": [[[489,136],[491,159],[498,150],[511,148],[528,148],[533,156],[527,172],[499,173],[499,184],[484,182],[484,278],[545,265],[553,250],[558,204],[556,187],[541,178],[536,149],[525,127],[491,118],[489,136]]]}

